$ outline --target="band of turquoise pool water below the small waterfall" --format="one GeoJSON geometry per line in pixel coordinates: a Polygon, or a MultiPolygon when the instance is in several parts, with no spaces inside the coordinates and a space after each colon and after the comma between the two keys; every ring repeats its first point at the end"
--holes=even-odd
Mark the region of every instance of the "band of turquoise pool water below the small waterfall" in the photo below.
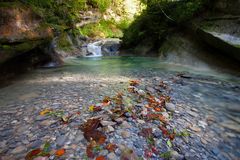
{"type": "MultiPolygon", "coordinates": [[[[210,76],[221,80],[239,81],[239,71],[208,66],[191,66],[188,64],[169,63],[158,57],[97,57],[68,58],[64,67],[57,69],[72,73],[89,73],[100,75],[125,75],[132,72],[189,73],[199,76],[210,76]]],[[[133,75],[134,76],[134,75],[133,75]]],[[[146,74],[148,76],[148,74],[146,74]]]]}

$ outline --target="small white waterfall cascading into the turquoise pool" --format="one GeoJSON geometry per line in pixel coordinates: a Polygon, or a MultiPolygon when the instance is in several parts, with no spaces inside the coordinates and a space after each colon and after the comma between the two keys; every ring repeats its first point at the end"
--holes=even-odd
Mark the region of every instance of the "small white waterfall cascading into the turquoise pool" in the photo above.
{"type": "Polygon", "coordinates": [[[101,57],[102,56],[102,41],[97,41],[94,43],[89,43],[87,45],[87,51],[90,53],[86,57],[101,57]]]}

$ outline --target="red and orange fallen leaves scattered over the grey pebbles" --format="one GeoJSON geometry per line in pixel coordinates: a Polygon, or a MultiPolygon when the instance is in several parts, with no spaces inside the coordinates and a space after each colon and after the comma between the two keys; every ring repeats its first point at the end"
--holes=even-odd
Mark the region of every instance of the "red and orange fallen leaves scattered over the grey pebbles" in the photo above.
{"type": "MultiPolygon", "coordinates": [[[[101,151],[108,150],[109,153],[114,153],[118,148],[121,150],[121,160],[151,159],[153,156],[159,159],[171,158],[175,137],[186,137],[189,136],[189,133],[187,130],[177,132],[176,128],[169,125],[174,113],[174,111],[166,110],[166,104],[171,103],[171,97],[168,96],[170,92],[170,87],[163,81],[160,81],[158,86],[151,88],[141,85],[139,80],[130,80],[124,93],[118,92],[112,97],[105,96],[100,103],[89,106],[87,112],[91,113],[92,117],[83,124],[79,124],[78,127],[87,140],[86,153],[82,159],[107,160],[109,158],[101,155],[101,151]],[[132,148],[119,147],[118,144],[108,140],[108,134],[115,132],[117,128],[124,125],[125,128],[131,128],[126,122],[129,118],[141,124],[138,136],[144,137],[147,143],[142,156],[137,155],[132,148]],[[159,122],[157,124],[159,132],[161,132],[162,143],[167,146],[167,150],[164,152],[161,150],[162,146],[156,144],[159,137],[155,137],[153,128],[145,127],[146,123],[153,123],[153,121],[159,122]],[[126,124],[129,126],[126,127],[126,124]]],[[[62,110],[46,108],[39,114],[40,116],[55,117],[59,120],[59,124],[67,125],[79,117],[81,112],[66,114],[62,110]]],[[[46,142],[42,148],[31,150],[26,154],[25,159],[59,159],[67,153],[64,148],[51,150],[50,145],[50,142],[46,142]]]]}

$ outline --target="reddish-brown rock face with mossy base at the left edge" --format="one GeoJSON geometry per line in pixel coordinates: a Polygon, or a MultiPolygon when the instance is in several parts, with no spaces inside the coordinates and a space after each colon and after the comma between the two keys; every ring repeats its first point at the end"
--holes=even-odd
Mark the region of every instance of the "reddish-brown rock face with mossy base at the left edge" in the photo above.
{"type": "Polygon", "coordinates": [[[29,7],[0,2],[0,64],[49,41],[51,28],[29,7]]]}

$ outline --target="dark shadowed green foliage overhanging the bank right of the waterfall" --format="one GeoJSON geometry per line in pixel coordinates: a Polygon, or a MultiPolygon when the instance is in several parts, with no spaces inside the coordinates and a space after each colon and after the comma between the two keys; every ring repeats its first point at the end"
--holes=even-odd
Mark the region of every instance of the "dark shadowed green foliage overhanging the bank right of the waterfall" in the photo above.
{"type": "Polygon", "coordinates": [[[192,19],[209,0],[142,0],[142,3],[147,8],[124,32],[125,47],[136,45],[147,37],[160,42],[168,30],[192,19]]]}

